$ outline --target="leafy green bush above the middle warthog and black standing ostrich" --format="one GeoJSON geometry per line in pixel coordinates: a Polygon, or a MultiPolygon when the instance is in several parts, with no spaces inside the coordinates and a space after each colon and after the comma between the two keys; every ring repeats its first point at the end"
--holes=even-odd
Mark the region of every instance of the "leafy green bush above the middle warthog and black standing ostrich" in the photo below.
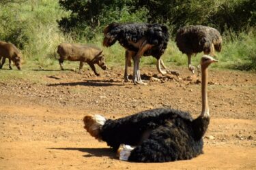
{"type": "Polygon", "coordinates": [[[132,0],[60,0],[59,5],[71,11],[70,16],[59,20],[59,27],[66,33],[73,32],[87,39],[92,39],[109,22],[146,21],[143,19],[147,14],[145,8],[130,12],[130,6],[134,5],[132,0]]]}

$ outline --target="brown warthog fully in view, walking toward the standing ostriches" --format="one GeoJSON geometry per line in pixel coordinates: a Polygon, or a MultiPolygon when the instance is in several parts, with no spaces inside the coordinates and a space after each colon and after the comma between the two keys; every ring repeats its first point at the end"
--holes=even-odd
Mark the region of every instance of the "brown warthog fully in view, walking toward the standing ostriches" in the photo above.
{"type": "Polygon", "coordinates": [[[98,76],[94,64],[100,66],[100,68],[106,70],[106,63],[103,51],[95,46],[83,45],[83,44],[59,44],[57,53],[59,54],[59,65],[63,70],[63,61],[80,61],[79,73],[83,69],[83,63],[88,63],[94,73],[98,76]]]}

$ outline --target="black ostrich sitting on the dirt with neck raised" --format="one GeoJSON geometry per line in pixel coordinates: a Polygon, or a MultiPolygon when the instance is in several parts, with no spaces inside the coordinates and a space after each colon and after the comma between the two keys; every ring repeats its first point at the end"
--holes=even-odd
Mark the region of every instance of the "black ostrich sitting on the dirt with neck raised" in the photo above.
{"type": "Polygon", "coordinates": [[[217,61],[208,55],[201,58],[202,111],[197,118],[171,108],[150,109],[116,120],[89,115],[83,119],[86,131],[99,141],[106,141],[115,151],[121,146],[118,150],[121,160],[167,162],[202,154],[202,137],[210,122],[208,66],[214,62],[217,61]]]}

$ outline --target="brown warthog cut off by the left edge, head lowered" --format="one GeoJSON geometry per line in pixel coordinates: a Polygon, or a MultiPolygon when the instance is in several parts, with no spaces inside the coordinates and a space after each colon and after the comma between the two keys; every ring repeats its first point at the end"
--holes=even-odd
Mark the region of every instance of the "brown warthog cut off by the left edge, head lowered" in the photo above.
{"type": "Polygon", "coordinates": [[[3,67],[3,64],[5,63],[5,58],[9,59],[10,69],[12,69],[11,61],[13,61],[14,65],[16,65],[18,69],[20,69],[21,53],[18,50],[18,48],[16,48],[14,44],[7,43],[5,41],[0,41],[0,61],[2,59],[0,63],[0,69],[3,67]]]}

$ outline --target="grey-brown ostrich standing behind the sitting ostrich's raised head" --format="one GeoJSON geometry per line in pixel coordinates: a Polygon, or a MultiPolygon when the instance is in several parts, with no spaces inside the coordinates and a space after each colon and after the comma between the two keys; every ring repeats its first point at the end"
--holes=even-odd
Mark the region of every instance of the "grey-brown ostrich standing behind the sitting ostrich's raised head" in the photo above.
{"type": "Polygon", "coordinates": [[[179,50],[188,56],[188,69],[195,73],[191,65],[191,56],[198,52],[215,55],[215,50],[221,52],[222,37],[218,30],[203,25],[190,25],[178,29],[175,38],[179,50]]]}

